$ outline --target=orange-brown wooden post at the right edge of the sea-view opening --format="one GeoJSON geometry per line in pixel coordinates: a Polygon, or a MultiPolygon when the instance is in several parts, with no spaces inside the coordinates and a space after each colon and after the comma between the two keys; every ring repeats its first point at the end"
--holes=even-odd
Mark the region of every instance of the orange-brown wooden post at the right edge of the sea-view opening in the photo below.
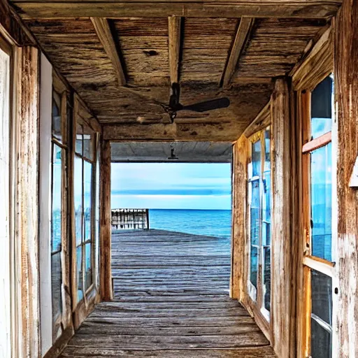
{"type": "Polygon", "coordinates": [[[241,136],[233,148],[233,225],[231,233],[231,278],[230,296],[243,302],[247,294],[248,280],[247,236],[246,236],[246,191],[248,166],[248,139],[241,136]]]}

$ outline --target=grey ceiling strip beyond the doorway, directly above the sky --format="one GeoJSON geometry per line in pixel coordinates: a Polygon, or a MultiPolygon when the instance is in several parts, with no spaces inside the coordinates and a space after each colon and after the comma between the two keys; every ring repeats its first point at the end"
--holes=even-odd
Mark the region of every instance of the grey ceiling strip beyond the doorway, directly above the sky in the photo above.
{"type": "Polygon", "coordinates": [[[111,159],[117,163],[231,163],[232,143],[117,142],[111,144],[111,159]],[[172,158],[171,150],[176,159],[172,158]]]}

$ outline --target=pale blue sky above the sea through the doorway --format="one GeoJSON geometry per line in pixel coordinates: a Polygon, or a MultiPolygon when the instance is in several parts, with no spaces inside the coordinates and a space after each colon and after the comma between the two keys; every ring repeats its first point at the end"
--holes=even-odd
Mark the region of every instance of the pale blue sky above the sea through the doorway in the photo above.
{"type": "Polygon", "coordinates": [[[113,163],[112,208],[231,208],[230,164],[113,163]]]}

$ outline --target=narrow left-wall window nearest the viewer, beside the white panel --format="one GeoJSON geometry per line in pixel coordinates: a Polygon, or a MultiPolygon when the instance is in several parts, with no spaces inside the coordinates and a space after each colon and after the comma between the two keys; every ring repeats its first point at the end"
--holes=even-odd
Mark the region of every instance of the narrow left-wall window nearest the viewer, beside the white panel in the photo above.
{"type": "Polygon", "coordinates": [[[51,289],[52,338],[62,334],[62,243],[67,234],[67,157],[68,117],[66,92],[52,92],[52,200],[51,200],[51,289]]]}

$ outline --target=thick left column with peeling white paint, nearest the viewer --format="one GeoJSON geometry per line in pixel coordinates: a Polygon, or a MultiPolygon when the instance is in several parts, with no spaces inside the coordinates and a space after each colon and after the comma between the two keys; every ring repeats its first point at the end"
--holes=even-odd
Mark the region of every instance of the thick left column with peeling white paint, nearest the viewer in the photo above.
{"type": "Polygon", "coordinates": [[[38,357],[38,50],[15,50],[15,357],[38,357]]]}

